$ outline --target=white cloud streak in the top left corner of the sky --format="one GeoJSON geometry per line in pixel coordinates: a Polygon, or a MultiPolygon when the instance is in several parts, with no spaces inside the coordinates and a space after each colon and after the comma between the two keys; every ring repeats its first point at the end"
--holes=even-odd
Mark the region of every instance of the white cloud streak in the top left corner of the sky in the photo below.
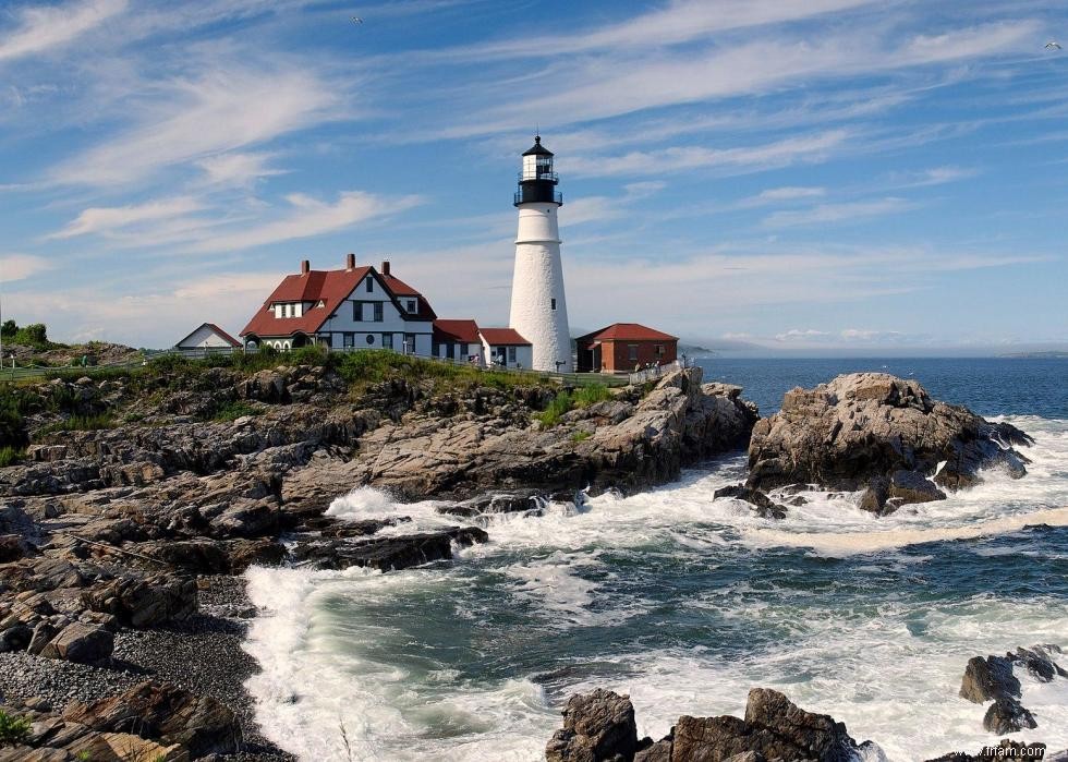
{"type": "Polygon", "coordinates": [[[20,13],[19,26],[0,37],[0,61],[65,45],[125,8],[126,0],[88,0],[27,8],[20,13]]]}

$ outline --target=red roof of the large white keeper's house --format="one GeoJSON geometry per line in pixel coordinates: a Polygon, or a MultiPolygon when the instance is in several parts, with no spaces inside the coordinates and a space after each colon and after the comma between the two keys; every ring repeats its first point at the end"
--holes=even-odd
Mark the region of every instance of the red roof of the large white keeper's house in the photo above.
{"type": "Polygon", "coordinates": [[[386,292],[396,302],[398,297],[417,301],[414,313],[408,312],[402,305],[401,315],[405,319],[433,320],[434,310],[429,302],[418,291],[402,280],[390,275],[376,273],[373,267],[354,267],[343,270],[310,270],[298,275],[288,275],[282,279],[264,305],[248,320],[241,331],[242,336],[291,336],[293,334],[314,334],[329,317],[337,312],[338,306],[352,293],[368,274],[374,274],[386,287],[386,292]],[[319,302],[324,306],[318,306],[319,302]],[[311,302],[300,317],[275,317],[274,305],[277,302],[311,302]]]}

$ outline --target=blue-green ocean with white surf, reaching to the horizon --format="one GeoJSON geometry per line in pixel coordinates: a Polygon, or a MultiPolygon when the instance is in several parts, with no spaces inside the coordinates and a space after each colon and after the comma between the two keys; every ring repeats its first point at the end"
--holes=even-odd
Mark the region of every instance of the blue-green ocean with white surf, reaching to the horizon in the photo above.
{"type": "MultiPolygon", "coordinates": [[[[1068,650],[1068,361],[700,363],[764,414],[839,373],[912,377],[1023,428],[1033,462],[1023,480],[991,472],[882,519],[857,495],[815,493],[770,521],[712,499],[744,479],[733,453],[581,511],[502,516],[450,563],[253,568],[245,648],[263,668],[248,688],[266,735],[305,760],[525,762],[544,759],[575,691],[629,693],[640,735],[657,739],[681,714],[740,716],[749,689],[769,687],[895,762],[996,742],[984,707],[957,696],[968,660],[1068,650]]],[[[360,488],[330,513],[457,522],[434,505],[360,488]]],[[[1039,727],[1010,737],[1068,748],[1068,679],[1021,681],[1039,727]]]]}

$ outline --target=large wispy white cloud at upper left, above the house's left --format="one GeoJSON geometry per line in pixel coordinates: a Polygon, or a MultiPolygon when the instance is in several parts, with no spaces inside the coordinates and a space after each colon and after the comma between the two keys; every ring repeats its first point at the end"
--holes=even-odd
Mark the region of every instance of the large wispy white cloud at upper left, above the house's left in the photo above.
{"type": "Polygon", "coordinates": [[[211,166],[218,154],[335,118],[340,108],[331,86],[300,69],[220,66],[196,80],[156,83],[155,89],[162,95],[136,126],[54,167],[51,179],[113,186],[187,161],[211,166]]]}

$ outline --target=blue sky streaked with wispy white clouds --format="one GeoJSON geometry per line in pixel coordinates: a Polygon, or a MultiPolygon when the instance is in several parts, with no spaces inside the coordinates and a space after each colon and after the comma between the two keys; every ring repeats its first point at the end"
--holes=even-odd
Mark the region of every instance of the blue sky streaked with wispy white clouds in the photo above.
{"type": "Polygon", "coordinates": [[[1068,349],[1053,0],[0,0],[3,319],[236,334],[354,252],[506,325],[535,130],[573,334],[1068,349]]]}

